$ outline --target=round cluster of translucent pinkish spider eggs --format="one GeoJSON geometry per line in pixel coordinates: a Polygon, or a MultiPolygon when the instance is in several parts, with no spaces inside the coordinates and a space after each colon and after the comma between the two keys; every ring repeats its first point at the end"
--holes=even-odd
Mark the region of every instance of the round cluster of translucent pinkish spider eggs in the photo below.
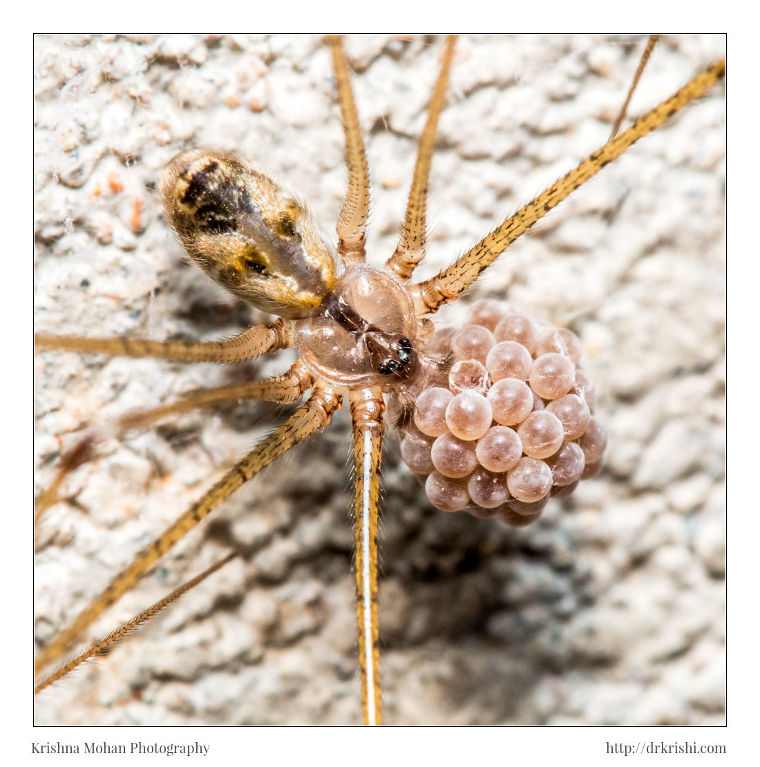
{"type": "Polygon", "coordinates": [[[429,341],[453,364],[417,393],[401,455],[438,509],[527,525],[550,495],[600,471],[607,433],[592,415],[594,385],[571,331],[497,301],[479,301],[469,321],[429,341]]]}

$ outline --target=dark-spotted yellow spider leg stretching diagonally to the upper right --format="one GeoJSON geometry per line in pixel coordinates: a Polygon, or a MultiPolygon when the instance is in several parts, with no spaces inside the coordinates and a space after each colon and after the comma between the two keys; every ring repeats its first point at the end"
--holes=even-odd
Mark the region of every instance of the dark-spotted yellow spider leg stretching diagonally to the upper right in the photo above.
{"type": "Polygon", "coordinates": [[[698,74],[676,94],[640,117],[632,127],[620,133],[620,136],[611,139],[600,150],[588,156],[574,170],[562,176],[557,183],[552,184],[513,216],[499,224],[489,235],[442,272],[429,280],[410,285],[417,316],[421,317],[423,314],[438,311],[443,304],[456,301],[475,282],[481,272],[488,268],[512,242],[530,229],[538,219],[545,216],[581,184],[587,182],[607,163],[617,159],[634,142],[656,127],[660,127],[679,109],[702,96],[724,76],[725,58],[698,74]]]}

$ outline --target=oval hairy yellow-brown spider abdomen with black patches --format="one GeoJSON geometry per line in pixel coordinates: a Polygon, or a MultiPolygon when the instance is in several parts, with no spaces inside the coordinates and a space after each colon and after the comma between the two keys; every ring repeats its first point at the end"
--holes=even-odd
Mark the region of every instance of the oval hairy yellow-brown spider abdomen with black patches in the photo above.
{"type": "Polygon", "coordinates": [[[185,152],[161,188],[190,258],[243,301],[307,317],[334,287],[337,257],[306,206],[241,156],[185,152]]]}

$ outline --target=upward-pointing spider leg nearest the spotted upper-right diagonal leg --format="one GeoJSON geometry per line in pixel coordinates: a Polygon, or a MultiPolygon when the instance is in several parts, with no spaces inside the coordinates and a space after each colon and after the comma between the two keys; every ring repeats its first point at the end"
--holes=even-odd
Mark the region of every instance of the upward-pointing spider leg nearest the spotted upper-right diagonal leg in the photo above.
{"type": "Polygon", "coordinates": [[[446,96],[446,81],[449,79],[455,43],[456,35],[449,35],[449,39],[446,41],[446,51],[443,53],[438,80],[435,87],[433,87],[433,95],[430,97],[423,135],[419,139],[412,186],[409,191],[409,200],[406,202],[403,231],[401,232],[399,244],[396,245],[396,250],[386,262],[387,268],[395,272],[396,275],[399,275],[405,282],[412,276],[416,265],[425,257],[427,186],[430,176],[430,161],[433,159],[433,146],[436,143],[438,118],[441,110],[443,110],[443,100],[446,96]]]}

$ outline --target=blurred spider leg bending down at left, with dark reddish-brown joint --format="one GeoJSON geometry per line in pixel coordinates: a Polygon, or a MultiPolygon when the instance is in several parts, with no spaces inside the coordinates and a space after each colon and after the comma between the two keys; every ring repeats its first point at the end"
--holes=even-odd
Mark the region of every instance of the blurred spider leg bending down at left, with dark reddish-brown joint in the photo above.
{"type": "Polygon", "coordinates": [[[110,426],[88,432],[61,456],[58,472],[56,472],[51,485],[35,499],[35,525],[40,521],[44,512],[60,500],[59,493],[64,479],[74,469],[78,469],[93,458],[95,444],[100,439],[104,439],[105,436],[127,429],[148,426],[150,423],[155,423],[168,416],[176,416],[179,413],[187,413],[189,410],[217,403],[242,402],[242,400],[267,400],[282,404],[294,403],[313,384],[314,377],[308,372],[306,366],[297,360],[291,365],[288,372],[281,376],[204,389],[189,394],[176,402],[153,407],[150,410],[140,410],[137,413],[126,413],[117,418],[110,426]]]}

